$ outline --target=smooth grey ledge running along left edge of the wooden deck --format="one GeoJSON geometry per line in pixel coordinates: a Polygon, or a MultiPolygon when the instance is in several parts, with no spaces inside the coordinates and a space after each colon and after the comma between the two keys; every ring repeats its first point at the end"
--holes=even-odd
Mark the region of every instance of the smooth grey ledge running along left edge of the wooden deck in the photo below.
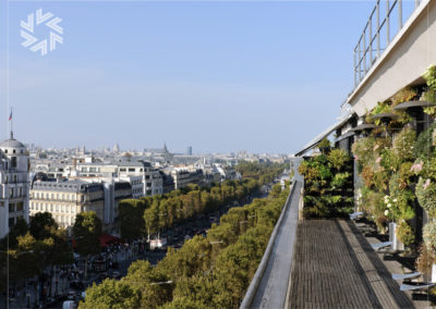
{"type": "Polygon", "coordinates": [[[295,182],[294,186],[289,205],[284,206],[288,211],[277,231],[271,255],[250,308],[284,307],[299,219],[301,182],[295,182]]]}

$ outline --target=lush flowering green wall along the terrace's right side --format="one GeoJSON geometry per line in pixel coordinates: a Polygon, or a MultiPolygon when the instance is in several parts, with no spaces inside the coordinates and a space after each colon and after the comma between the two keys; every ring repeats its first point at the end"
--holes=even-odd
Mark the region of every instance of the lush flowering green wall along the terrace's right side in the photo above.
{"type": "Polygon", "coordinates": [[[352,146],[363,185],[358,207],[380,233],[395,222],[400,242],[419,252],[428,272],[436,257],[436,69],[425,84],[407,87],[366,115],[377,125],[352,146]]]}

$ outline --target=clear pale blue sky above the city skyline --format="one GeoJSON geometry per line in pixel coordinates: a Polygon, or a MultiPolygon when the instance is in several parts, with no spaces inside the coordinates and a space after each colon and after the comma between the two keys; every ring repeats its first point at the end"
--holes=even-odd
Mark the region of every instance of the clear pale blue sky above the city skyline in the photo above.
{"type": "Polygon", "coordinates": [[[374,4],[10,1],[0,137],[8,92],[15,136],[44,147],[294,152],[339,115],[374,4]],[[45,57],[20,37],[20,21],[39,8],[64,29],[45,57]]]}

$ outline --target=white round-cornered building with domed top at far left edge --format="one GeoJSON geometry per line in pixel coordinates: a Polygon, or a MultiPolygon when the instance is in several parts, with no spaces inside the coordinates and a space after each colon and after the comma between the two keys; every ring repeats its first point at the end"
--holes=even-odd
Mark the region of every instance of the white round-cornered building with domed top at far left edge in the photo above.
{"type": "Polygon", "coordinates": [[[11,131],[0,144],[0,238],[20,218],[28,223],[28,170],[27,149],[11,131]]]}

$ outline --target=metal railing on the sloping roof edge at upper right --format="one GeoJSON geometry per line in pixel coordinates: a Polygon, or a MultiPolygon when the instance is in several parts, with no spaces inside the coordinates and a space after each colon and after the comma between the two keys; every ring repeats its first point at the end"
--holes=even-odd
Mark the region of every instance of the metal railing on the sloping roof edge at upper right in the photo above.
{"type": "Polygon", "coordinates": [[[420,3],[421,0],[377,0],[354,47],[354,88],[388,48],[420,3]],[[408,7],[409,11],[404,11],[404,4],[413,8],[408,7]]]}

